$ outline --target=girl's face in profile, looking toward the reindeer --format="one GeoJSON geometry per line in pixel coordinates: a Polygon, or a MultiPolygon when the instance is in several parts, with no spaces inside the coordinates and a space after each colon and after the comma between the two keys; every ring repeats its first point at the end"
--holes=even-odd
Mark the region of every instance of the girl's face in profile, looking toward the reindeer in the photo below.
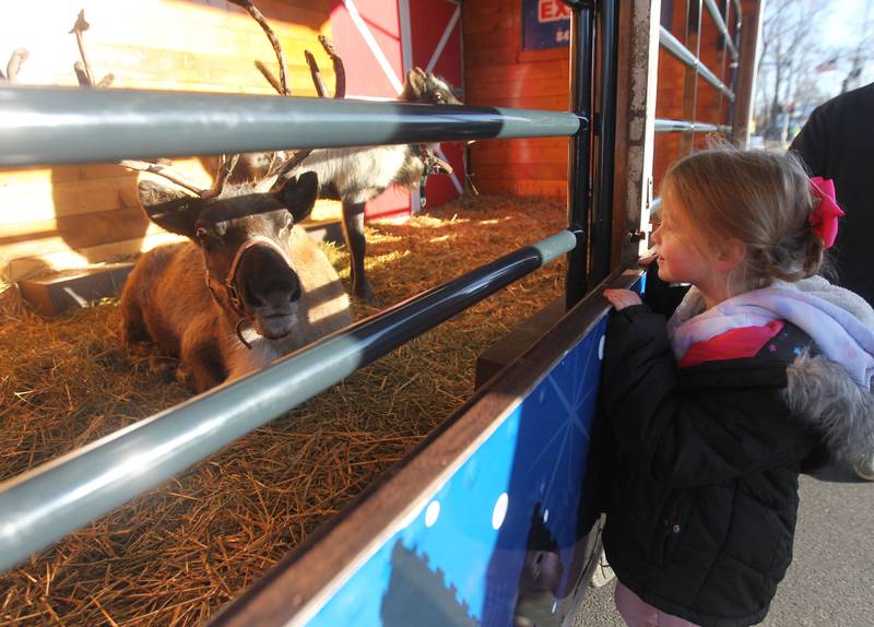
{"type": "Polygon", "coordinates": [[[661,213],[662,222],[652,233],[652,241],[658,246],[659,277],[700,287],[711,275],[712,261],[694,246],[689,229],[671,220],[670,208],[663,204],[661,213]]]}

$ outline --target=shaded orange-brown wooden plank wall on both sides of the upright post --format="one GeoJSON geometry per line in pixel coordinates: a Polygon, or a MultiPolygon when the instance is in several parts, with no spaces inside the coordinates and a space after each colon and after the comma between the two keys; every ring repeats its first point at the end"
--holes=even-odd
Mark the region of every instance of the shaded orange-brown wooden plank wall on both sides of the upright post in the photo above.
{"type": "MultiPolygon", "coordinates": [[[[663,23],[686,43],[687,3],[697,0],[662,0],[663,23]]],[[[731,0],[728,0],[731,2],[731,0]]],[[[759,0],[743,0],[745,13],[756,11],[759,0]]],[[[724,0],[718,2],[723,4],[724,0]]],[[[568,49],[522,51],[521,0],[465,0],[464,71],[468,103],[507,107],[566,110],[569,103],[568,49]]],[[[699,56],[729,84],[730,67],[719,46],[719,32],[706,8],[701,8],[699,56]]],[[[731,19],[733,33],[733,12],[731,19]]],[[[619,28],[627,28],[619,24],[619,28]]],[[[755,33],[745,34],[755,36],[755,33]]],[[[690,45],[693,50],[697,46],[690,45]]],[[[752,63],[753,60],[745,62],[752,63]]],[[[686,68],[663,48],[659,51],[657,118],[728,123],[729,104],[720,92],[698,78],[695,99],[687,99],[686,68]]],[[[653,176],[659,182],[690,143],[700,145],[706,135],[657,133],[653,176]]],[[[554,196],[564,198],[567,179],[567,140],[504,140],[479,142],[471,150],[473,180],[485,193],[554,196]]]]}

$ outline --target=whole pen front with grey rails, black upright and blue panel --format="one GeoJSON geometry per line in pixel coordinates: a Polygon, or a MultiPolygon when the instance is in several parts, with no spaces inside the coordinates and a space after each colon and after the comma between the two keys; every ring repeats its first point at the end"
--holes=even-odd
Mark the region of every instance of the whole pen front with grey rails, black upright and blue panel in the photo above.
{"type": "MultiPolygon", "coordinates": [[[[246,379],[5,482],[0,485],[0,568],[14,566],[512,281],[568,255],[569,315],[399,464],[392,476],[369,488],[217,622],[409,625],[427,607],[436,612],[428,614],[433,620],[415,622],[504,625],[522,611],[520,600],[536,607],[545,602],[556,618],[568,615],[575,587],[590,566],[593,536],[588,533],[597,520],[587,504],[584,483],[607,312],[599,294],[582,297],[604,279],[613,285],[631,285],[639,273],[611,274],[617,268],[611,241],[617,235],[628,239],[627,234],[612,230],[615,224],[622,228],[613,212],[621,7],[614,0],[567,4],[574,12],[572,110],[567,113],[0,88],[0,165],[8,166],[571,138],[567,229],[390,307],[246,379]],[[560,566],[554,585],[543,594],[523,594],[529,560],[544,555],[560,566]]],[[[645,46],[646,42],[639,45],[645,46]]],[[[645,59],[643,67],[651,67],[651,61],[645,59]]],[[[642,94],[646,100],[646,81],[642,94]]],[[[646,110],[645,106],[645,117],[646,110]]],[[[666,130],[666,122],[659,123],[659,130],[666,130]]],[[[642,137],[646,144],[646,132],[642,137]]],[[[637,220],[638,227],[639,217],[639,209],[625,216],[631,224],[637,220]]],[[[630,240],[624,253],[629,246],[630,240]]]]}

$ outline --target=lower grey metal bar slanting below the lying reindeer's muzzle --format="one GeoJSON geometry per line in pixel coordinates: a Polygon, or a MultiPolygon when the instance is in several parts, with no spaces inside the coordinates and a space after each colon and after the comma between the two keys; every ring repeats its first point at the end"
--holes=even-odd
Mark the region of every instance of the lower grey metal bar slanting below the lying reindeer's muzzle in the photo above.
{"type": "Polygon", "coordinates": [[[563,230],[0,484],[0,571],[554,261],[563,230]]]}

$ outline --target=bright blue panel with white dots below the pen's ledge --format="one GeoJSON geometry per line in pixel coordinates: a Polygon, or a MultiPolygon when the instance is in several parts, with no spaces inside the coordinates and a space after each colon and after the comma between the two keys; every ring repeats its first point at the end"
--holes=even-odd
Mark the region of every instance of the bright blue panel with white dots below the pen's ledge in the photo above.
{"type": "Polygon", "coordinates": [[[504,627],[568,592],[605,329],[606,316],[311,625],[504,627]]]}

